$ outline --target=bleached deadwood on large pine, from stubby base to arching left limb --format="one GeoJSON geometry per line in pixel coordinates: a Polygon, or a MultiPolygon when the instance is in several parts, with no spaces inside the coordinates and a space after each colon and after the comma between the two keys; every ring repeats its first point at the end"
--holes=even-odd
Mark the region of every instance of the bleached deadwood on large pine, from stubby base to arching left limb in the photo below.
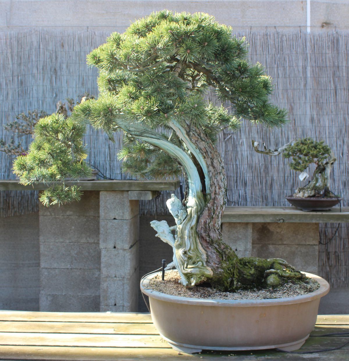
{"type": "Polygon", "coordinates": [[[128,134],[162,149],[182,165],[183,170],[187,174],[188,184],[186,207],[182,206],[181,202],[174,195],[167,203],[170,212],[174,215],[177,228],[170,228],[167,222],[165,224],[157,221],[152,223],[152,227],[156,227],[159,238],[173,247],[173,260],[184,286],[193,286],[210,278],[213,275],[213,271],[206,265],[208,257],[196,231],[200,214],[205,208],[205,200],[202,194],[201,178],[193,159],[183,149],[169,142],[152,129],[126,121],[122,114],[115,121],[128,134]],[[176,231],[174,242],[171,230],[176,231]]]}

